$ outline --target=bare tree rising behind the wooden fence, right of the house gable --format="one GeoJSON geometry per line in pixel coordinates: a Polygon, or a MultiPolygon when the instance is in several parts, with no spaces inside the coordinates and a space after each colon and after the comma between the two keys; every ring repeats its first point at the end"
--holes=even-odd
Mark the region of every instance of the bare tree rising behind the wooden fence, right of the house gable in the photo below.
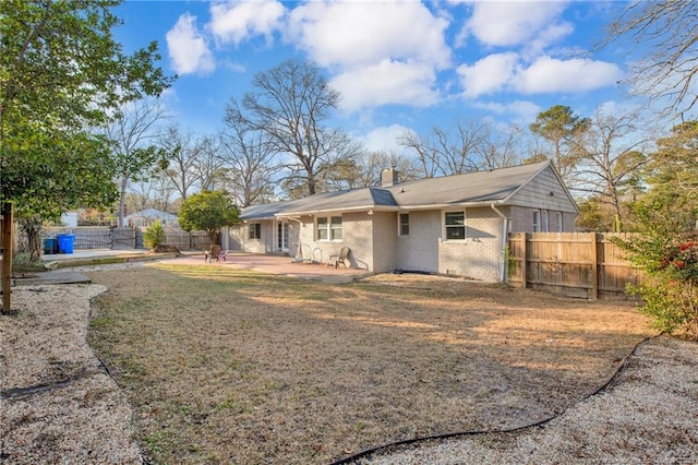
{"type": "Polygon", "coordinates": [[[637,187],[638,174],[648,163],[645,144],[638,134],[634,115],[619,117],[597,110],[591,126],[573,143],[579,154],[570,189],[609,205],[614,214],[614,229],[623,230],[622,195],[637,187]]]}

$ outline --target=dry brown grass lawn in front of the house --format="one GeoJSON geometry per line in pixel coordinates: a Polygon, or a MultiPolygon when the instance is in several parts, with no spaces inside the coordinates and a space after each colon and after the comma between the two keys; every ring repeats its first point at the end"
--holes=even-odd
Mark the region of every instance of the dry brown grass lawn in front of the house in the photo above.
{"type": "Polygon", "coordinates": [[[89,276],[109,287],[89,343],[157,464],[326,464],[522,426],[592,392],[651,334],[629,303],[455,278],[327,285],[165,264],[89,276]]]}

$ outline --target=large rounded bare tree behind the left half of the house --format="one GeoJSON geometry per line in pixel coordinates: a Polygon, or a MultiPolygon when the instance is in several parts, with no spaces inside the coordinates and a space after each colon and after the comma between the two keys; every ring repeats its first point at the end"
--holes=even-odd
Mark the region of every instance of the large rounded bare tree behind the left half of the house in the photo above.
{"type": "Polygon", "coordinates": [[[254,91],[244,95],[241,106],[231,103],[228,117],[265,133],[277,153],[291,155],[289,175],[302,171],[306,194],[314,194],[320,165],[327,166],[344,151],[337,146],[346,141],[338,138],[339,131],[323,126],[337,108],[339,93],[314,64],[296,60],[256,74],[252,85],[254,91]],[[293,169],[296,164],[300,169],[293,169]]]}

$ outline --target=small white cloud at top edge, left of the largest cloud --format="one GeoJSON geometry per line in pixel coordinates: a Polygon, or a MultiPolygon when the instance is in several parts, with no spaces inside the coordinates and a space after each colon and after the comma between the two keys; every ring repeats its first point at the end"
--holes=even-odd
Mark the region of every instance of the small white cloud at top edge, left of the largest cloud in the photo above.
{"type": "Polygon", "coordinates": [[[286,8],[275,0],[234,1],[210,5],[209,31],[221,43],[240,45],[252,36],[264,36],[273,41],[286,8]]]}

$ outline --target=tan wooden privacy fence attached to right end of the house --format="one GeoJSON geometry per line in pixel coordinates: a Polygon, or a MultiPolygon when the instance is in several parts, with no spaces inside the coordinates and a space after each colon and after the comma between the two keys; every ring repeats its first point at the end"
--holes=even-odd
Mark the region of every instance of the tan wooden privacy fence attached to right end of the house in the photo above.
{"type": "Polygon", "coordinates": [[[623,259],[612,233],[509,234],[508,283],[568,297],[626,298],[642,273],[623,259]]]}

